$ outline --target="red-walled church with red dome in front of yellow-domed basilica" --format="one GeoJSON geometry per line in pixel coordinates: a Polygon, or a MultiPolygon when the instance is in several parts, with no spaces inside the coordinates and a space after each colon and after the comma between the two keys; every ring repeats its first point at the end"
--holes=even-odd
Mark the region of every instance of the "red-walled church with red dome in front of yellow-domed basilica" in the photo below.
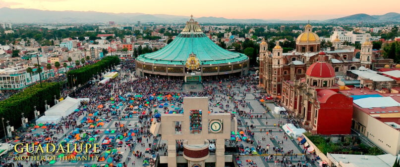
{"type": "Polygon", "coordinates": [[[281,104],[312,133],[350,134],[353,99],[338,93],[334,68],[326,60],[321,52],[305,78],[282,81],[281,104]]]}

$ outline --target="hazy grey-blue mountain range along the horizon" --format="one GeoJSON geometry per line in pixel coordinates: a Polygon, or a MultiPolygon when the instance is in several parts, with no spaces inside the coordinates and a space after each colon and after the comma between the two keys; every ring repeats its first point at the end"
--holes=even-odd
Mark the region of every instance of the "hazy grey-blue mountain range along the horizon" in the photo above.
{"type": "MultiPolygon", "coordinates": [[[[168,14],[145,13],[106,13],[96,11],[51,11],[26,8],[0,8],[0,22],[11,23],[185,23],[189,16],[175,16],[168,14]]],[[[200,23],[305,23],[306,20],[279,20],[279,19],[227,19],[224,17],[199,17],[195,18],[200,23]]],[[[329,20],[310,20],[313,23],[351,23],[351,22],[400,22],[399,13],[384,15],[354,14],[329,20]]]]}

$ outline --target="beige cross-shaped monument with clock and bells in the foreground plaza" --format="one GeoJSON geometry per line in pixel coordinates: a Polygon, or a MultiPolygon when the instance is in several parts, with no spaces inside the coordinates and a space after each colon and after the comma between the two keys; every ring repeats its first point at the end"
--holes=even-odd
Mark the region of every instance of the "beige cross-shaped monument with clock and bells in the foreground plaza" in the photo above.
{"type": "Polygon", "coordinates": [[[208,97],[183,98],[182,114],[161,114],[161,121],[153,120],[150,131],[167,140],[168,155],[160,156],[160,164],[168,167],[224,167],[232,162],[232,155],[225,155],[225,140],[230,132],[237,131],[237,120],[230,113],[208,112],[208,97]],[[210,142],[215,144],[215,154],[210,154],[210,142]],[[183,147],[183,154],[177,150],[183,147]]]}

